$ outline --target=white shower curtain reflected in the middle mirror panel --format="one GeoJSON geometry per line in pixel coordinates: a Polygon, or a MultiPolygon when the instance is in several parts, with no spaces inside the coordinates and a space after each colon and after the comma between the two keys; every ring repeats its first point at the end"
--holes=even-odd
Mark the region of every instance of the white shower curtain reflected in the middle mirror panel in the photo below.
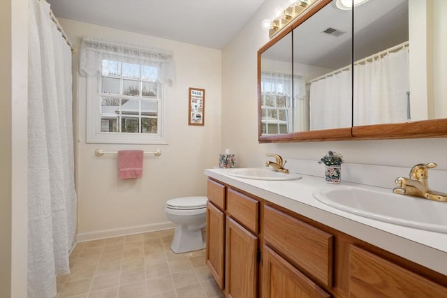
{"type": "Polygon", "coordinates": [[[310,85],[310,130],[351,127],[351,70],[310,85]]]}

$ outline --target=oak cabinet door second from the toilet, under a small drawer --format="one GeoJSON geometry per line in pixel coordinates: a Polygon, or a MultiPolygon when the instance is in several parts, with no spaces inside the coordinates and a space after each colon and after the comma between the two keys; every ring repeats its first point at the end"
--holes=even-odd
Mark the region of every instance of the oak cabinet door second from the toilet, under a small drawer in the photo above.
{"type": "Polygon", "coordinates": [[[226,220],[225,292],[230,298],[256,298],[258,293],[258,237],[226,220]]]}

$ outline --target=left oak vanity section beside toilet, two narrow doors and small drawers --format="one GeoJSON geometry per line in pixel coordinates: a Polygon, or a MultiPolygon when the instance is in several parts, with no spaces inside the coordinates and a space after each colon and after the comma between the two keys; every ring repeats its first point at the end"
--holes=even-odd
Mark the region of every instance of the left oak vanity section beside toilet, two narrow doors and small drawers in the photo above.
{"type": "Polygon", "coordinates": [[[258,297],[260,200],[207,182],[206,263],[226,297],[258,297]]]}

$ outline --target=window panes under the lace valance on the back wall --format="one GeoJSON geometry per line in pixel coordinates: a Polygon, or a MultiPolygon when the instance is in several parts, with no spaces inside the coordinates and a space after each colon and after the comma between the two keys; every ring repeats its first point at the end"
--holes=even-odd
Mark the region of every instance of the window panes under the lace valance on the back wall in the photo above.
{"type": "Polygon", "coordinates": [[[101,133],[159,133],[162,84],[158,69],[103,59],[101,133]]]}

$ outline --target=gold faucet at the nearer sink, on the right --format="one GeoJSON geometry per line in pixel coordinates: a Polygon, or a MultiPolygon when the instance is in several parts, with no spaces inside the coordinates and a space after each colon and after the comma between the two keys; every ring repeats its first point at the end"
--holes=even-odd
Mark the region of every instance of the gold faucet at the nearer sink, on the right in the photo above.
{"type": "Polygon", "coordinates": [[[436,163],[418,163],[410,170],[410,177],[398,177],[395,180],[397,187],[393,188],[393,193],[400,195],[413,195],[438,202],[447,202],[447,193],[432,191],[428,188],[428,169],[437,167],[436,163]]]}

